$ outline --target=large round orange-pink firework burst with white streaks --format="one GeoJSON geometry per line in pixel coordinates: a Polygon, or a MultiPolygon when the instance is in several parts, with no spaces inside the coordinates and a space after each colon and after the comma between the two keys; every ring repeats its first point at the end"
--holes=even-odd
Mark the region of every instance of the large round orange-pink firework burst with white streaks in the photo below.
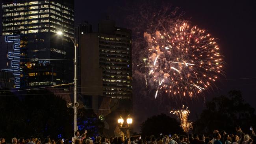
{"type": "Polygon", "coordinates": [[[160,92],[195,96],[208,90],[223,74],[223,59],[216,39],[197,26],[177,22],[168,31],[144,33],[147,39],[145,80],[160,92]]]}

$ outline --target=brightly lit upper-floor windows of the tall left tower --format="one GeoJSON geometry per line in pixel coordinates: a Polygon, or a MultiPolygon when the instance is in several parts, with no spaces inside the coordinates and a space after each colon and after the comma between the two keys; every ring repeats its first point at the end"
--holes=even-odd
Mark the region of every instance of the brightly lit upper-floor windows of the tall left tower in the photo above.
{"type": "Polygon", "coordinates": [[[12,30],[22,30],[21,33],[37,33],[37,32],[45,32],[45,31],[64,31],[70,34],[74,34],[74,10],[70,9],[69,7],[62,6],[62,4],[54,1],[49,0],[39,0],[39,1],[32,1],[32,2],[24,2],[24,3],[12,3],[12,4],[2,4],[3,7],[3,35],[9,35],[13,32],[12,30]],[[48,4],[50,3],[50,4],[48,4]],[[18,7],[22,6],[22,7],[18,7]],[[48,8],[48,9],[43,9],[48,8]],[[25,10],[25,11],[24,11],[25,10]],[[51,14],[49,14],[49,12],[51,14]],[[39,13],[39,15],[37,15],[39,13]],[[43,13],[43,14],[41,14],[43,13]],[[41,15],[40,15],[41,14],[41,15]],[[57,17],[59,16],[59,17],[57,17]],[[39,19],[39,18],[52,18],[52,19],[39,19]],[[32,20],[30,20],[32,19],[32,20]],[[37,20],[33,20],[37,19],[37,20]],[[19,20],[18,22],[15,22],[19,20]],[[26,20],[20,22],[20,20],[26,20]],[[16,25],[24,25],[24,24],[37,24],[37,23],[44,23],[44,22],[51,22],[53,24],[57,24],[58,26],[54,25],[37,25],[37,26],[17,26],[16,25]],[[66,24],[63,24],[66,23],[66,24]],[[39,29],[39,30],[26,30],[26,29],[36,29],[36,28],[44,28],[49,27],[47,29],[39,29]],[[51,30],[55,28],[56,30],[51,30]],[[65,27],[65,28],[63,28],[65,27]]]}

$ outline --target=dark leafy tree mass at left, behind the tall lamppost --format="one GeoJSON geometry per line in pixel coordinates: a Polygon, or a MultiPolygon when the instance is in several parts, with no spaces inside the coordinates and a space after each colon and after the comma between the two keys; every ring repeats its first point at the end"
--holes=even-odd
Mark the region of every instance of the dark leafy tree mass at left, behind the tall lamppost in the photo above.
{"type": "MultiPolygon", "coordinates": [[[[74,135],[74,110],[67,108],[63,98],[48,90],[0,93],[0,114],[0,136],[6,138],[7,142],[11,142],[13,137],[50,136],[56,140],[74,135]]],[[[93,111],[79,109],[78,124],[82,123],[85,129],[102,127],[93,111]],[[83,123],[85,120],[88,122],[83,123]]],[[[102,133],[102,129],[97,129],[96,132],[102,133]]]]}

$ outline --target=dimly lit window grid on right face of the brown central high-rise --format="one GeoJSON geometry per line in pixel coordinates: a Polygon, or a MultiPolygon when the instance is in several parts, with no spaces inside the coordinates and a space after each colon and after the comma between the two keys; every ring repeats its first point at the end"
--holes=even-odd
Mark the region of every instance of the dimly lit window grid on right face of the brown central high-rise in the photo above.
{"type": "Polygon", "coordinates": [[[129,98],[132,95],[130,36],[117,34],[114,37],[98,38],[100,66],[103,68],[103,95],[111,98],[129,98]]]}

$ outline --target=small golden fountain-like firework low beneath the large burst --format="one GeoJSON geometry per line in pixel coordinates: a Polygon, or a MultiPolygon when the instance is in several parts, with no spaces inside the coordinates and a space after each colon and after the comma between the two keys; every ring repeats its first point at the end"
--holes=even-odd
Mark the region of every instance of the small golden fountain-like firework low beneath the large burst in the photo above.
{"type": "Polygon", "coordinates": [[[182,109],[180,110],[174,110],[170,113],[176,114],[178,118],[180,119],[180,127],[182,127],[184,132],[189,132],[190,129],[192,129],[192,122],[189,122],[188,116],[189,116],[189,109],[188,107],[185,108],[184,105],[182,105],[182,109]]]}

